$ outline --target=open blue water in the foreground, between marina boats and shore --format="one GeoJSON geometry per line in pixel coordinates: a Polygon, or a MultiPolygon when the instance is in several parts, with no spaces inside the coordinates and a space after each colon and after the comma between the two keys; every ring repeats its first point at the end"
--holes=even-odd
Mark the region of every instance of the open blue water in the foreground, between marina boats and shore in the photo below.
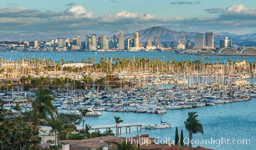
{"type": "MultiPolygon", "coordinates": [[[[188,112],[197,112],[198,119],[203,124],[203,134],[197,133],[193,135],[193,139],[197,139],[201,145],[206,148],[219,150],[226,149],[254,149],[256,134],[256,98],[251,101],[242,101],[230,104],[215,104],[212,107],[197,107],[188,110],[167,110],[165,114],[154,113],[116,113],[103,112],[98,117],[86,117],[86,123],[93,125],[115,124],[114,116],[118,115],[122,118],[123,123],[146,123],[160,124],[167,121],[172,124],[172,128],[155,129],[155,130],[139,130],[137,127],[131,127],[131,133],[125,132],[122,127],[120,136],[136,136],[137,134],[149,133],[149,136],[157,138],[158,142],[173,142],[175,137],[175,128],[178,127],[184,132],[184,141],[188,142],[188,131],[185,130],[184,121],[188,118],[188,112]],[[229,142],[227,142],[227,140],[229,142]]],[[[104,130],[101,130],[103,132],[104,130]]],[[[113,129],[113,133],[115,129],[113,129]]]]}

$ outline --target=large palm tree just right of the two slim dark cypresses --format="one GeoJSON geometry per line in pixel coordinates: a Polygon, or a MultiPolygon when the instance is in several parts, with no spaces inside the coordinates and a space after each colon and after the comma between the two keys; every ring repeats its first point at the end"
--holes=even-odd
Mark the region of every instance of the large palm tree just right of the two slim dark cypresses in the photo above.
{"type": "Polygon", "coordinates": [[[190,112],[188,113],[188,118],[184,122],[185,128],[188,130],[189,133],[189,150],[192,149],[192,134],[193,133],[203,133],[203,124],[197,120],[197,112],[190,112]]]}

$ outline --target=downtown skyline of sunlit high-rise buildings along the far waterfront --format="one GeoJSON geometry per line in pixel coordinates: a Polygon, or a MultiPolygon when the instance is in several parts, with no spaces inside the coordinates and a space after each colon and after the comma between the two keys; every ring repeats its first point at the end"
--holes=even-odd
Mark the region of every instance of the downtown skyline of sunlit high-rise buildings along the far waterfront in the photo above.
{"type": "MultiPolygon", "coordinates": [[[[190,37],[191,39],[191,37],[190,37]]],[[[140,42],[140,35],[135,32],[133,36],[127,37],[122,32],[113,37],[106,35],[97,36],[97,34],[87,34],[86,37],[56,38],[50,41],[17,41],[5,42],[0,44],[0,50],[28,50],[28,51],[68,51],[68,50],[156,50],[156,49],[209,49],[232,47],[232,40],[225,37],[220,40],[219,45],[214,42],[212,31],[205,34],[195,34],[194,42],[188,40],[188,35],[173,39],[172,41],[162,41],[160,36],[147,39],[146,42],[140,42]]]]}

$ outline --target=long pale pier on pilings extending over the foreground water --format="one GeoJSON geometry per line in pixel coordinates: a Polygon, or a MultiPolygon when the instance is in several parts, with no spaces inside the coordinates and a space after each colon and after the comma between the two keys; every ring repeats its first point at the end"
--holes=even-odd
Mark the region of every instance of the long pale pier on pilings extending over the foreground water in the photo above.
{"type": "MultiPolygon", "coordinates": [[[[149,124],[144,124],[144,123],[128,123],[128,124],[118,124],[117,127],[118,127],[118,133],[121,133],[122,131],[122,127],[125,127],[125,131],[126,133],[131,133],[131,127],[137,127],[137,131],[140,129],[142,129],[143,127],[145,128],[146,126],[148,126],[149,124]]],[[[94,125],[91,127],[92,130],[95,130],[95,132],[97,130],[100,130],[100,129],[106,129],[106,130],[109,130],[111,128],[116,128],[116,124],[107,124],[107,125],[94,125]]]]}

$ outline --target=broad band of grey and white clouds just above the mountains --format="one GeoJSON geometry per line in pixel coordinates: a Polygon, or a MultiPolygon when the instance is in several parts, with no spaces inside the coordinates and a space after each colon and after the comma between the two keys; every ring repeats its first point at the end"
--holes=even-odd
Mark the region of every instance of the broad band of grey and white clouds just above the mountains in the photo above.
{"type": "Polygon", "coordinates": [[[1,31],[137,31],[152,26],[165,26],[177,31],[235,31],[244,26],[256,26],[256,10],[241,5],[227,8],[205,9],[208,13],[219,13],[216,17],[157,17],[152,13],[140,14],[120,10],[105,16],[95,16],[85,7],[74,5],[61,12],[26,9],[23,7],[0,8],[1,31]]]}

